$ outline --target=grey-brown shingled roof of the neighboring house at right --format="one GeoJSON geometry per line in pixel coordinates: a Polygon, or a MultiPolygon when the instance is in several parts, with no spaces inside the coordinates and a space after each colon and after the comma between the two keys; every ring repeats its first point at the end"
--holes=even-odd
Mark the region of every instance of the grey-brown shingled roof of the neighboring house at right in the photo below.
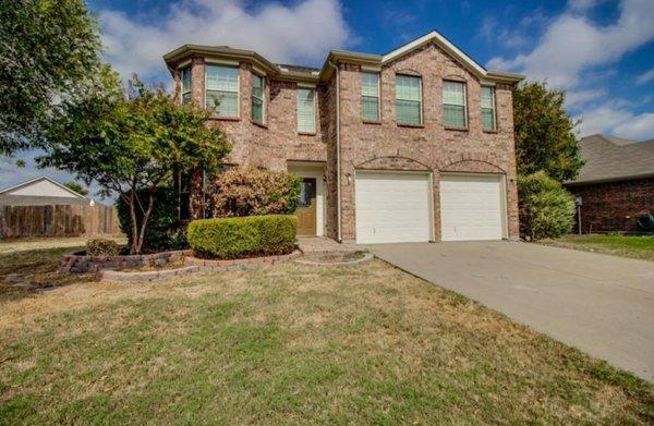
{"type": "Polygon", "coordinates": [[[586,163],[570,185],[654,177],[654,141],[592,135],[579,142],[586,163]]]}

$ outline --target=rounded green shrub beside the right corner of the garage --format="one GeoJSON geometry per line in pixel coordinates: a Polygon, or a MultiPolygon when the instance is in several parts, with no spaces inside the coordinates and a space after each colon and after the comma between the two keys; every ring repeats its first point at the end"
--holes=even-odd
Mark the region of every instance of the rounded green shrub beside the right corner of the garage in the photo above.
{"type": "Polygon", "coordinates": [[[545,172],[518,178],[520,235],[554,239],[572,229],[574,198],[545,172]]]}

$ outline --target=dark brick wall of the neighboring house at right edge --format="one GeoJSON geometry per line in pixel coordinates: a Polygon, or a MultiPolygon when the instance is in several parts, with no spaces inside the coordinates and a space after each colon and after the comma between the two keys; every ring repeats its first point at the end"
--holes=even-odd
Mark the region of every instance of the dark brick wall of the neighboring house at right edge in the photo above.
{"type": "MultiPolygon", "coordinates": [[[[654,212],[654,179],[573,185],[568,186],[568,191],[583,198],[583,233],[637,231],[638,219],[654,212]]],[[[578,231],[577,227],[573,232],[578,231]]]]}

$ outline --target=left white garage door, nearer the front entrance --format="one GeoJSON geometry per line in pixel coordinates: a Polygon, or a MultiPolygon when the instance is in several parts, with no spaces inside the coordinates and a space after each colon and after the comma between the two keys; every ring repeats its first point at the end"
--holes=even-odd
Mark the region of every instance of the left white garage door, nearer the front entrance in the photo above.
{"type": "Polygon", "coordinates": [[[405,243],[431,240],[427,173],[356,172],[356,242],[405,243]]]}

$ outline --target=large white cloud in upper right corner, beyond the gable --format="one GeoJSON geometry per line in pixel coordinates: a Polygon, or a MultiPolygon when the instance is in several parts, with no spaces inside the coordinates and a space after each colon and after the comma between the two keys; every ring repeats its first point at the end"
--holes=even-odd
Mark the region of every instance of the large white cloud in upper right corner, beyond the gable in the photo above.
{"type": "Polygon", "coordinates": [[[593,24],[579,11],[564,12],[555,19],[529,53],[512,59],[494,58],[491,68],[509,69],[544,80],[554,87],[573,87],[583,71],[619,60],[625,53],[654,39],[654,1],[622,0],[617,22],[606,26],[593,24]]]}

